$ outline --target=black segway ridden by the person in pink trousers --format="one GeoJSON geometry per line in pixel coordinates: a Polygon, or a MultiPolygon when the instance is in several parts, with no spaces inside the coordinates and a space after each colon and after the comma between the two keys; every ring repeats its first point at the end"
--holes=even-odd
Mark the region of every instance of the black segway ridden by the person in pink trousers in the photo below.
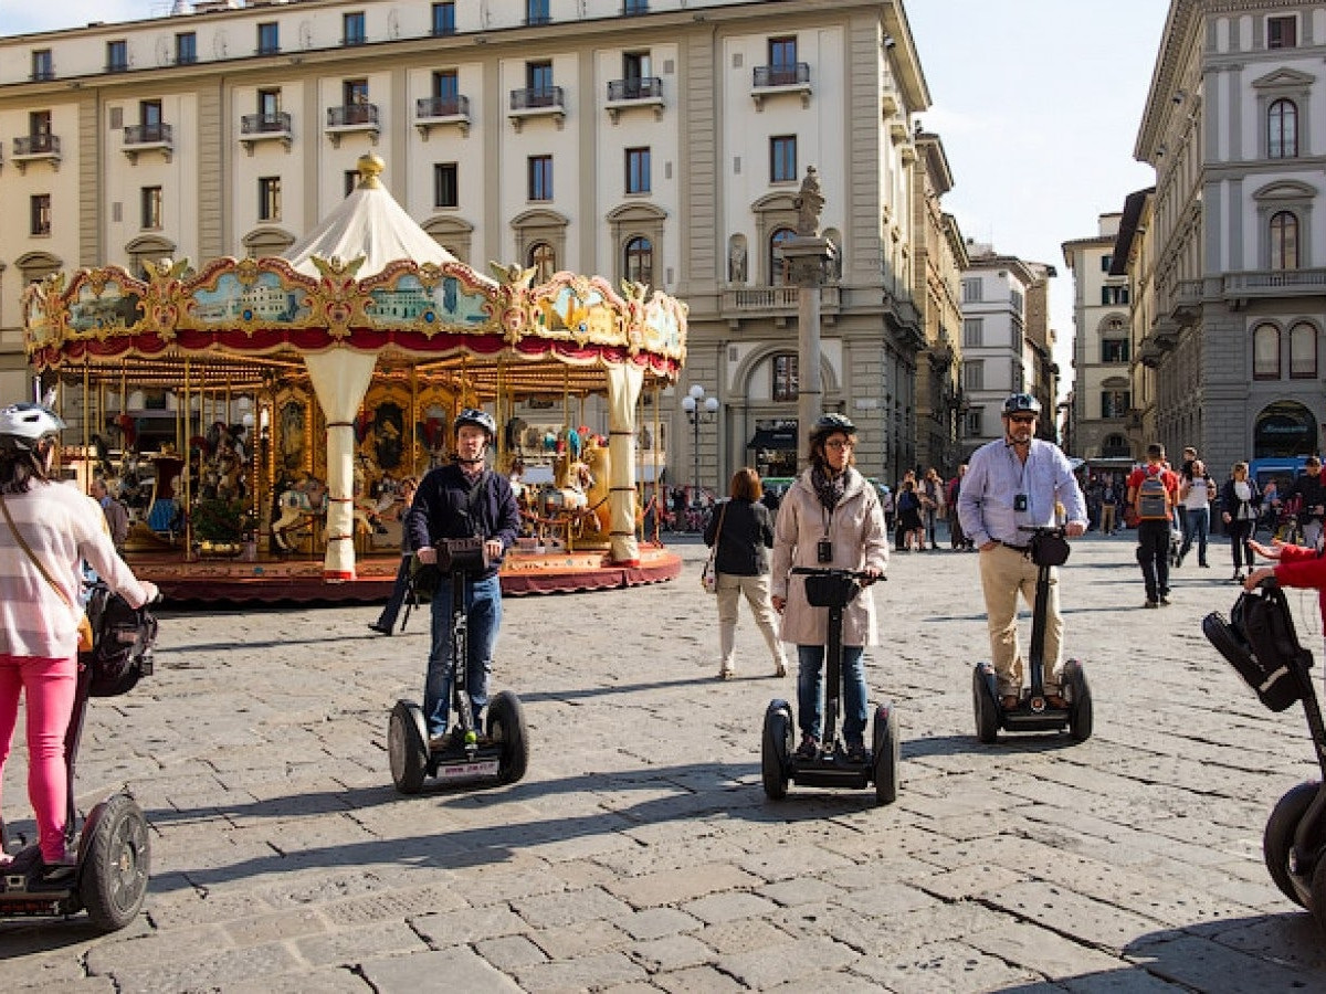
{"type": "Polygon", "coordinates": [[[152,672],[156,619],[146,608],[131,608],[97,580],[91,584],[88,620],[93,648],[78,653],[74,708],[65,732],[65,844],[72,850],[77,842],[78,860],[70,871],[50,873],[36,843],[15,854],[13,861],[0,869],[0,918],[62,917],[86,911],[98,932],[115,932],[137,917],[147,895],[147,819],[130,794],[118,791],[95,804],[80,828],[74,759],[88,698],[125,693],[152,672]]]}

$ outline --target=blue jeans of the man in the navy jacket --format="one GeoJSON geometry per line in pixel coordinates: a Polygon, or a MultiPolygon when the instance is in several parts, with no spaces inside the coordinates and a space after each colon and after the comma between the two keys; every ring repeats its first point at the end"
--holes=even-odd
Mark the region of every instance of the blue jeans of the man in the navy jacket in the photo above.
{"type": "MultiPolygon", "coordinates": [[[[468,580],[465,614],[469,619],[469,659],[465,665],[465,689],[469,706],[479,725],[479,716],[488,704],[488,675],[493,668],[493,645],[501,627],[501,579],[468,580]]],[[[428,651],[428,676],[423,689],[423,717],[428,736],[447,730],[451,714],[451,577],[438,584],[432,595],[432,648],[428,651]]]]}

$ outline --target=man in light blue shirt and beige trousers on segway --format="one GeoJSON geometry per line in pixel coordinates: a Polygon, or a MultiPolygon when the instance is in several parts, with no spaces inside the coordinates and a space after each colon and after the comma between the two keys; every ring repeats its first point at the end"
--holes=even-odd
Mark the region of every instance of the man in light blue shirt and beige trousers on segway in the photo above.
{"type": "MultiPolygon", "coordinates": [[[[1004,402],[1004,437],[976,449],[957,496],[963,531],[981,554],[981,592],[989,626],[991,659],[998,684],[1000,704],[1017,708],[1022,693],[1022,653],[1017,640],[1017,595],[1036,603],[1040,567],[1032,562],[1029,535],[1021,526],[1053,525],[1063,508],[1070,537],[1086,531],[1086,498],[1073,476],[1063,451],[1036,437],[1041,402],[1030,394],[1013,394],[1004,402]]],[[[1063,619],[1059,615],[1058,567],[1050,571],[1045,611],[1045,694],[1052,708],[1066,706],[1059,693],[1063,665],[1059,647],[1063,619]]]]}

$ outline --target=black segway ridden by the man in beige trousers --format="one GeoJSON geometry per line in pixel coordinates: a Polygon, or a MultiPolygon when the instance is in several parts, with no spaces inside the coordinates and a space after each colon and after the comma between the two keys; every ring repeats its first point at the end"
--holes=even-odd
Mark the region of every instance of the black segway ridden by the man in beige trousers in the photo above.
{"type": "Polygon", "coordinates": [[[989,660],[977,663],[972,673],[976,737],[989,745],[998,738],[1000,730],[1062,732],[1066,728],[1075,742],[1085,742],[1091,737],[1091,688],[1087,687],[1082,664],[1075,659],[1063,664],[1059,692],[1067,706],[1050,706],[1045,696],[1045,614],[1050,603],[1050,570],[1067,562],[1066,530],[1062,526],[1028,525],[1021,525],[1020,530],[1032,533],[1029,554],[1037,566],[1032,645],[1026,656],[1032,685],[1021,689],[1016,708],[1005,710],[1000,701],[994,664],[989,660]]]}

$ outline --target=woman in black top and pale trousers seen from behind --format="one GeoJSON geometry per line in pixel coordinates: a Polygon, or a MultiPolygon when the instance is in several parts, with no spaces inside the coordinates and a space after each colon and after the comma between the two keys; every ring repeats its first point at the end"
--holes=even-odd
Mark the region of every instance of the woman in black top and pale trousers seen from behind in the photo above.
{"type": "Polygon", "coordinates": [[[704,543],[715,549],[719,600],[719,679],[736,676],[733,652],[737,607],[744,596],[773,659],[773,675],[786,676],[788,659],[778,640],[777,618],[769,600],[769,554],[773,517],[760,502],[760,474],[743,467],[732,474],[727,501],[715,508],[704,527],[704,543]]]}

